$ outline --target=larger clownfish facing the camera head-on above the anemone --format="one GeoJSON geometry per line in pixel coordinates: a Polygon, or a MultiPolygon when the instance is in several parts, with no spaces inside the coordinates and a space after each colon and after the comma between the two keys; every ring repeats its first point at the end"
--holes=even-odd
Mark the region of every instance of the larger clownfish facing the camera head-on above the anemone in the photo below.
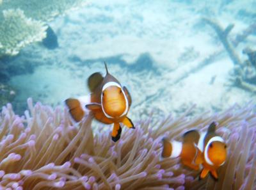
{"type": "Polygon", "coordinates": [[[88,78],[88,87],[91,91],[90,97],[80,99],[67,99],[68,110],[76,122],[80,122],[89,109],[99,122],[114,123],[112,140],[118,141],[121,136],[123,123],[129,129],[135,129],[131,119],[127,117],[132,99],[125,86],[121,86],[118,80],[109,74],[106,68],[106,76],[103,77],[99,72],[95,72],[88,78]],[[86,109],[85,109],[86,108],[86,109]]]}

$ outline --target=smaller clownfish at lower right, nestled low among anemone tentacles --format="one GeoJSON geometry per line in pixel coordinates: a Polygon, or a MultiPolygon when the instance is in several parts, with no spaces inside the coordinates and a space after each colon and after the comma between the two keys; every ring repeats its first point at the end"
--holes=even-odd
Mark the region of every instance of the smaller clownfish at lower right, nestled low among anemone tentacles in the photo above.
{"type": "Polygon", "coordinates": [[[227,145],[223,138],[216,133],[216,123],[209,125],[207,132],[200,133],[191,130],[183,135],[183,141],[168,141],[163,139],[162,157],[180,157],[182,164],[199,170],[203,166],[200,178],[210,172],[214,179],[218,179],[216,170],[227,159],[227,145]]]}

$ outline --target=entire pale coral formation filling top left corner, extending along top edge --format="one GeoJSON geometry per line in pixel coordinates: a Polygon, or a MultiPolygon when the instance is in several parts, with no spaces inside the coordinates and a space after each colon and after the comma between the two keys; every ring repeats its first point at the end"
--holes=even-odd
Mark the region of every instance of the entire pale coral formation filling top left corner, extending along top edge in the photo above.
{"type": "Polygon", "coordinates": [[[87,3],[77,1],[13,1],[6,0],[1,4],[0,11],[0,57],[14,56],[22,47],[32,42],[40,42],[45,38],[44,22],[65,13],[71,8],[87,3]]]}

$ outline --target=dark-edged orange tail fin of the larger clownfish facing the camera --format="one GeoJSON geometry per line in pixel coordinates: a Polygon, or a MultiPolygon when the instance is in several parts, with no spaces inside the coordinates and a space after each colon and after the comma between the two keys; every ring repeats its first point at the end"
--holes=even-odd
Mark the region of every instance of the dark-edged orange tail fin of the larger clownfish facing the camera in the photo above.
{"type": "Polygon", "coordinates": [[[68,111],[71,117],[76,121],[80,122],[84,116],[84,110],[81,106],[81,103],[77,99],[67,99],[65,100],[65,104],[68,107],[68,111]]]}

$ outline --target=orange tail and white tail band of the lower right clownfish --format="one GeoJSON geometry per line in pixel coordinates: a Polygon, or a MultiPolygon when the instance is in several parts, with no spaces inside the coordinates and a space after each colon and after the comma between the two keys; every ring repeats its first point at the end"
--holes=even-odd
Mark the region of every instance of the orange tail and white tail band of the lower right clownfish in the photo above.
{"type": "Polygon", "coordinates": [[[178,141],[168,141],[167,139],[163,139],[163,151],[162,157],[179,157],[182,150],[182,143],[178,141]]]}

